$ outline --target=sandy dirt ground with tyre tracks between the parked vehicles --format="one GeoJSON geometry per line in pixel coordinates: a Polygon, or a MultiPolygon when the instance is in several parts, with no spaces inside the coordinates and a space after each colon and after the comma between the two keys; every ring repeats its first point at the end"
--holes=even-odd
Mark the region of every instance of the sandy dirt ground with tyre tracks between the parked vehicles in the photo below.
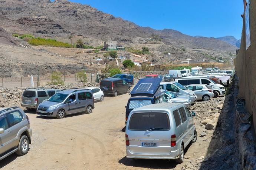
{"type": "MultiPolygon", "coordinates": [[[[128,94],[105,97],[95,103],[91,114],[55,119],[26,111],[33,129],[29,153],[1,160],[0,168],[10,169],[181,169],[191,160],[205,156],[209,142],[198,138],[183,164],[166,160],[132,160],[125,153],[125,105],[128,94]]],[[[196,122],[199,120],[196,119],[196,122]]],[[[196,124],[198,134],[199,123],[196,124]]]]}

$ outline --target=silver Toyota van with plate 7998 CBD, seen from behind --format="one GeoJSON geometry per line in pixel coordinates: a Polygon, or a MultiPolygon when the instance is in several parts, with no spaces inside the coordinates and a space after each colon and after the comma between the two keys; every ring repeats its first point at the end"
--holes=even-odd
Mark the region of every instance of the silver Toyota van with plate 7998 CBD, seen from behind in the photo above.
{"type": "Polygon", "coordinates": [[[125,132],[127,158],[134,159],[173,159],[182,163],[184,149],[197,140],[189,109],[178,103],[132,110],[125,132]]]}

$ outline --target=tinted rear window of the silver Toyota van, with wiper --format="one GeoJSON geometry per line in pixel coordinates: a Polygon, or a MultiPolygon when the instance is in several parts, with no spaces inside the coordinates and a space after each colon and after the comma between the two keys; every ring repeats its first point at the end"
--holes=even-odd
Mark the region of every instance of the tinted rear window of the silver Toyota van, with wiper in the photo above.
{"type": "Polygon", "coordinates": [[[129,130],[170,130],[170,120],[166,113],[135,113],[129,121],[129,130]]]}

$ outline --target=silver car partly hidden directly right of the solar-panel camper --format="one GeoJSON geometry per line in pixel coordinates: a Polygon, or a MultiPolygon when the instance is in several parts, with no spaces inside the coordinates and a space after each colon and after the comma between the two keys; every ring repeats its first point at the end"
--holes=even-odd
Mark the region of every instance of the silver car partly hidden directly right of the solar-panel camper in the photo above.
{"type": "Polygon", "coordinates": [[[191,100],[189,99],[189,97],[177,96],[175,94],[172,94],[170,91],[165,91],[164,96],[168,100],[168,103],[183,103],[188,108],[191,106],[191,100]]]}

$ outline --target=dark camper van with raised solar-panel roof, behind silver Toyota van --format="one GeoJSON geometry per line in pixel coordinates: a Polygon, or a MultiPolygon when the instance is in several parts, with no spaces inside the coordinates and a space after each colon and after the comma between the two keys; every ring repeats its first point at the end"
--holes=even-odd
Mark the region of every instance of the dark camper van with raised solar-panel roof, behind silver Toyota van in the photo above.
{"type": "Polygon", "coordinates": [[[127,102],[125,111],[125,122],[129,113],[138,107],[146,106],[154,103],[167,103],[164,96],[165,91],[161,91],[160,78],[140,79],[131,91],[131,98],[127,102]]]}

